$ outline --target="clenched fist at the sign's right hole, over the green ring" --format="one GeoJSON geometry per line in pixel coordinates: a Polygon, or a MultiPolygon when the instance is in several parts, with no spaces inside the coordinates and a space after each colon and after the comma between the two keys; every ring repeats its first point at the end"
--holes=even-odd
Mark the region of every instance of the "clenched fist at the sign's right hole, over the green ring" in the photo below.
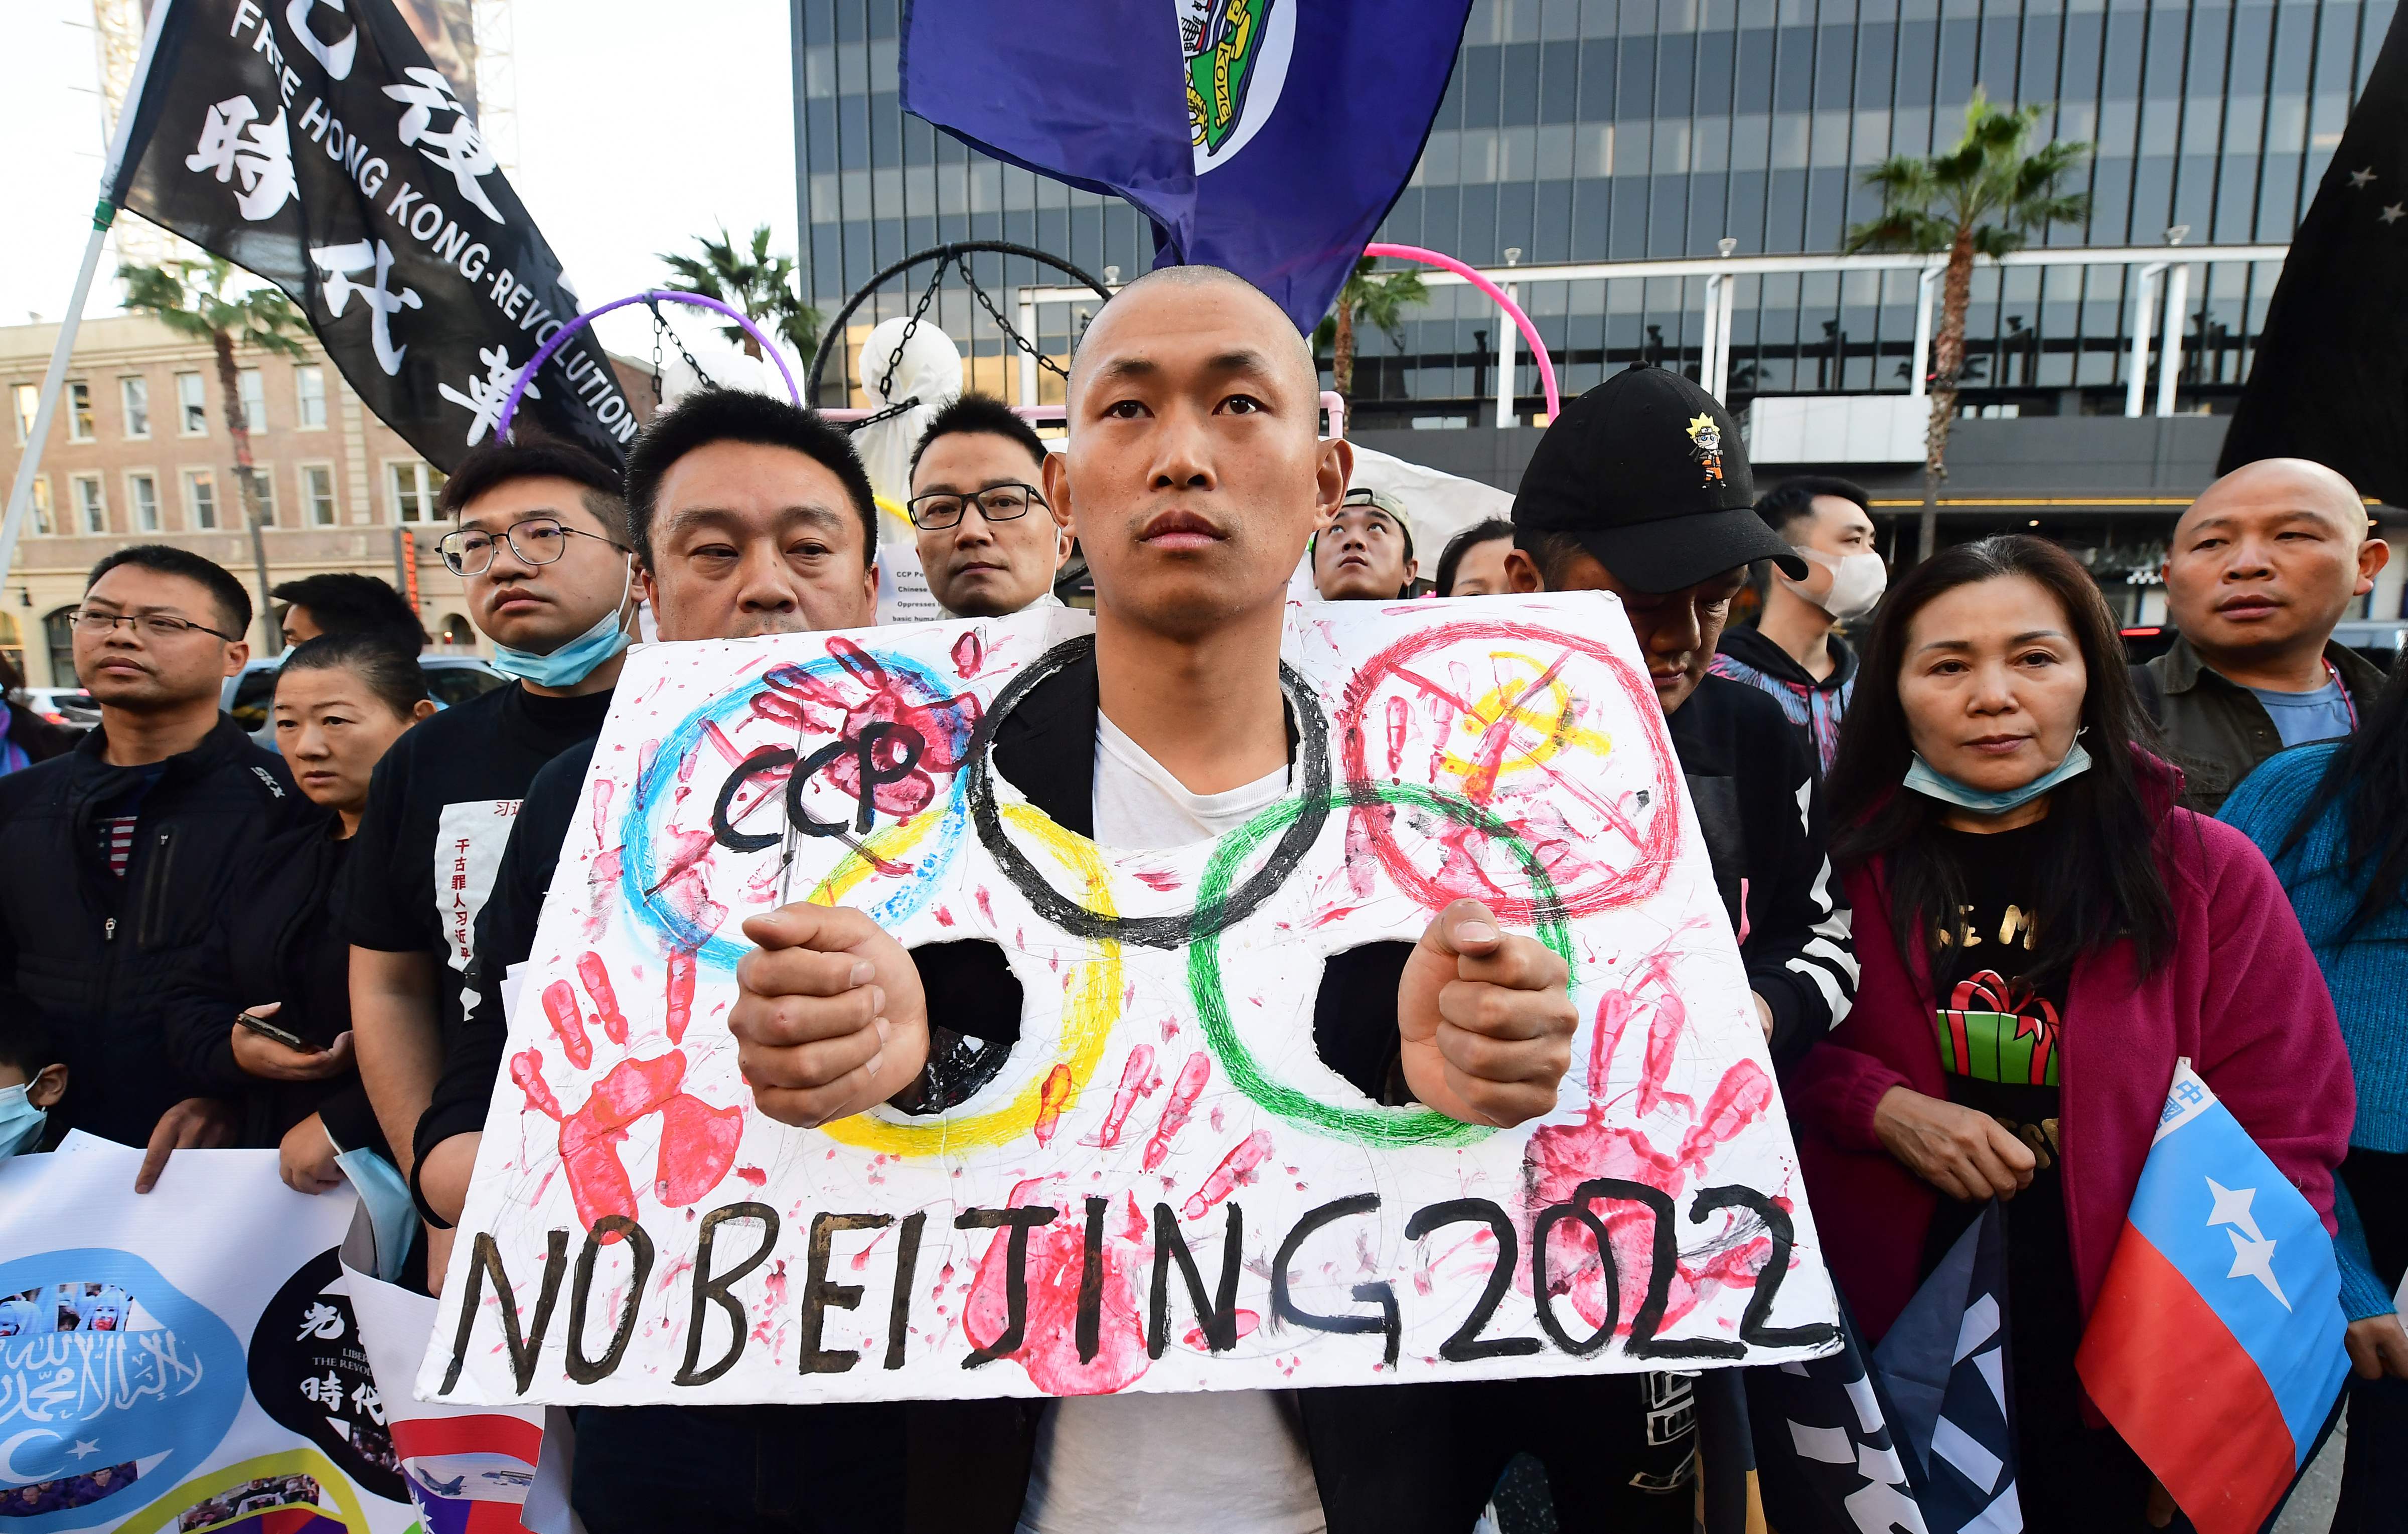
{"type": "Polygon", "coordinates": [[[1397,1033],[1413,1096],[1466,1125],[1512,1127],[1556,1108],[1572,1064],[1570,970],[1479,901],[1438,913],[1404,961],[1397,1033]]]}

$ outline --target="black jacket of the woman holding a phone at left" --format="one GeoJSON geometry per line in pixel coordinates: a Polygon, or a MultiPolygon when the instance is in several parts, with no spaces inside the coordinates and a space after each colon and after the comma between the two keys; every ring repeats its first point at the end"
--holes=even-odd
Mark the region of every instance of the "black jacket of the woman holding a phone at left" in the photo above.
{"type": "Polygon", "coordinates": [[[320,812],[241,860],[209,939],[185,956],[169,997],[176,1069],[243,1101],[246,1146],[275,1146],[315,1113],[344,1151],[385,1154],[356,1069],[327,1081],[262,1081],[234,1064],[234,1014],[243,1007],[282,1002],[270,1021],[320,1048],[352,1028],[352,946],[327,915],[352,843],[332,831],[335,816],[320,812]]]}

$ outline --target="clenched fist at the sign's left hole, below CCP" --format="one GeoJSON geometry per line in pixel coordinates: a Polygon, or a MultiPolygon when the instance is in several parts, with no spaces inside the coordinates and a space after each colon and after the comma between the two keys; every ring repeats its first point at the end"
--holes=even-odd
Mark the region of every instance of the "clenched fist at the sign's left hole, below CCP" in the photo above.
{"type": "Polygon", "coordinates": [[[816,1129],[910,1086],[927,1064],[920,968],[884,927],[843,905],[780,905],[744,922],[727,1028],[754,1103],[816,1129]]]}

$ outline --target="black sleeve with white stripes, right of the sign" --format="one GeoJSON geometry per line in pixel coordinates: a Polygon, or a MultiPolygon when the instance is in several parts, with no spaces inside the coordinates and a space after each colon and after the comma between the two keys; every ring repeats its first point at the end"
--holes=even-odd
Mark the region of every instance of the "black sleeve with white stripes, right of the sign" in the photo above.
{"type": "Polygon", "coordinates": [[[1729,677],[1700,682],[1666,725],[1748,987],[1772,1007],[1772,1062],[1787,1069],[1857,999],[1857,949],[1830,872],[1813,756],[1780,703],[1729,677]]]}

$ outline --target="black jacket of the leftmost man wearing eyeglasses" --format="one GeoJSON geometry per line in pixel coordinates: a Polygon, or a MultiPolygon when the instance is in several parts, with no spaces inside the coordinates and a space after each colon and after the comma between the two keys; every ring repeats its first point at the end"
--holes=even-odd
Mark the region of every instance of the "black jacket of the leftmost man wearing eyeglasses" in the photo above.
{"type": "Polygon", "coordinates": [[[106,747],[94,730],[0,778],[0,1009],[43,1023],[65,1052],[67,1127],[140,1146],[161,1113],[209,1096],[166,1048],[176,975],[209,939],[236,862],[308,802],[282,756],[219,715],[195,749],[159,763],[120,879],[96,816],[142,768],[108,766],[106,747]]]}

